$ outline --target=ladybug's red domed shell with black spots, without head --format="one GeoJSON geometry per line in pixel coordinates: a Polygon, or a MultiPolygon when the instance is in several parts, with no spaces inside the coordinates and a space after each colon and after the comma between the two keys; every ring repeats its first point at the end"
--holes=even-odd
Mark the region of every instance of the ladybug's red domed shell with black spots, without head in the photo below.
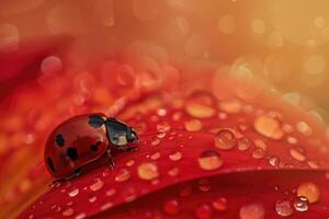
{"type": "Polygon", "coordinates": [[[78,168],[97,160],[107,150],[106,129],[90,125],[90,116],[79,115],[57,126],[46,142],[45,163],[54,177],[72,175],[78,168]]]}

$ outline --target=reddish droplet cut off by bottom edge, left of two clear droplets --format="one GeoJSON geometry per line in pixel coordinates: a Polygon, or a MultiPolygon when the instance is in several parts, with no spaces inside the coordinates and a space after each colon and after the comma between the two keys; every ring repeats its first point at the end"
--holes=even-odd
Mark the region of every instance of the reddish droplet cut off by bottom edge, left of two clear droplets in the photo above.
{"type": "Polygon", "coordinates": [[[248,204],[240,208],[240,219],[263,219],[265,209],[261,204],[248,204]]]}

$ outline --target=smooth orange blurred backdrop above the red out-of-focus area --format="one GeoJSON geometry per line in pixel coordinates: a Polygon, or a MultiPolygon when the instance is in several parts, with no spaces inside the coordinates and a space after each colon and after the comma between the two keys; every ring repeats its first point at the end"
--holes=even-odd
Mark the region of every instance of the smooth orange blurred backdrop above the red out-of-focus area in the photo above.
{"type": "Polygon", "coordinates": [[[242,66],[243,77],[271,82],[292,102],[311,100],[328,119],[328,12],[326,0],[1,1],[0,48],[68,34],[77,37],[70,58],[82,65],[150,44],[160,58],[242,66]]]}

